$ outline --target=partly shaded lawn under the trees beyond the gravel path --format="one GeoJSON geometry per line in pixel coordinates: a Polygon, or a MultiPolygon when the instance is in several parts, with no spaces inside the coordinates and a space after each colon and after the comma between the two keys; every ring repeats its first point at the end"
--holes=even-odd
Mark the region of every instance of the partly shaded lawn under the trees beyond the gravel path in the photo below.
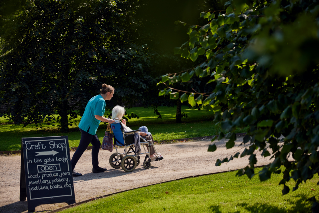
{"type": "MultiPolygon", "coordinates": [[[[130,128],[138,129],[140,126],[147,126],[149,132],[152,133],[155,141],[157,140],[170,140],[180,138],[192,138],[216,135],[220,131],[220,126],[215,126],[212,122],[214,116],[212,112],[205,110],[192,110],[187,106],[182,106],[182,112],[188,115],[188,118],[182,118],[182,124],[175,123],[176,107],[159,107],[159,112],[162,119],[158,119],[154,115],[152,108],[134,107],[127,110],[127,112],[135,113],[139,119],[132,118],[129,120],[128,126],[130,128]]],[[[78,124],[80,118],[76,120],[78,124]]],[[[0,151],[11,151],[21,149],[21,138],[25,137],[48,137],[48,136],[61,136],[67,135],[69,137],[69,146],[77,147],[81,133],[78,127],[70,126],[70,133],[60,133],[56,127],[52,125],[42,124],[42,129],[36,130],[36,125],[31,124],[22,128],[21,125],[13,125],[8,123],[4,118],[0,118],[0,151]]],[[[100,141],[104,137],[106,125],[100,124],[97,131],[100,141]]],[[[238,129],[236,133],[246,132],[246,129],[238,129]]]]}

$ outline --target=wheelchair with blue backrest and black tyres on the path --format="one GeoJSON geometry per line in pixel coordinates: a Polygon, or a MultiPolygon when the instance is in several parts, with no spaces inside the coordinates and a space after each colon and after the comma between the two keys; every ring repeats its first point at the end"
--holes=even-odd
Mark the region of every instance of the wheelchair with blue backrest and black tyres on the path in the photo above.
{"type": "Polygon", "coordinates": [[[123,127],[122,127],[122,123],[120,121],[120,119],[115,118],[114,120],[118,120],[118,123],[113,123],[111,124],[111,128],[113,131],[113,138],[114,138],[114,145],[115,145],[115,150],[116,153],[113,153],[110,156],[109,159],[109,163],[110,165],[115,168],[118,169],[120,167],[122,167],[122,169],[126,172],[131,172],[134,171],[134,169],[136,168],[137,165],[140,164],[140,158],[141,155],[146,155],[144,162],[143,162],[143,166],[145,169],[150,168],[151,166],[151,162],[152,161],[160,161],[163,159],[162,156],[158,156],[155,146],[153,144],[153,142],[151,140],[146,141],[143,137],[140,137],[140,143],[141,143],[141,148],[143,146],[144,148],[144,153],[142,153],[142,150],[139,154],[136,154],[133,146],[134,146],[134,133],[135,132],[140,132],[140,129],[137,130],[133,130],[130,132],[124,132],[123,127]],[[146,151],[145,149],[145,144],[148,145],[148,150],[146,151]],[[117,147],[116,146],[124,146],[124,153],[118,153],[117,151],[117,147]],[[154,146],[154,150],[155,150],[155,155],[156,155],[156,159],[151,160],[150,158],[150,148],[151,146],[154,146]]]}

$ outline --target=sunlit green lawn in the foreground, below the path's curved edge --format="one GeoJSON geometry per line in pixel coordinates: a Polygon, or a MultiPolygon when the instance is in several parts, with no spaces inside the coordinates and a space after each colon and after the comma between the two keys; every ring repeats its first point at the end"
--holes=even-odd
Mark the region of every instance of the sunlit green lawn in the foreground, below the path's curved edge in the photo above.
{"type": "MultiPolygon", "coordinates": [[[[260,170],[256,168],[256,173],[260,170]]],[[[306,200],[312,196],[318,199],[318,175],[306,184],[300,184],[294,192],[295,182],[292,179],[287,183],[290,193],[282,196],[283,186],[278,186],[282,173],[274,174],[264,182],[260,182],[258,175],[249,180],[246,175],[236,177],[235,174],[236,171],[226,172],[147,186],[62,212],[305,213],[311,212],[312,206],[312,202],[306,200]]]]}

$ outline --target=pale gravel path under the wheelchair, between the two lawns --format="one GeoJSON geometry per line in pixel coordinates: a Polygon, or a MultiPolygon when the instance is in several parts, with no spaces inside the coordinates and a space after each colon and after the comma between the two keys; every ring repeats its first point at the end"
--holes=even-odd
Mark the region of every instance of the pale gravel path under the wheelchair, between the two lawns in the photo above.
{"type": "MultiPolygon", "coordinates": [[[[157,152],[160,152],[164,159],[152,162],[151,168],[147,170],[140,163],[130,173],[121,168],[113,169],[108,163],[112,153],[100,150],[100,166],[107,168],[108,171],[93,174],[91,150],[87,150],[76,166],[76,170],[83,175],[73,178],[76,202],[162,181],[243,168],[248,164],[247,156],[235,158],[219,167],[215,166],[218,158],[229,157],[242,148],[242,146],[238,147],[241,142],[242,138],[238,138],[235,147],[226,150],[226,140],[221,140],[216,143],[215,152],[207,152],[208,145],[211,144],[210,140],[156,145],[157,152]]],[[[74,152],[70,153],[71,156],[73,154],[74,152]]],[[[19,201],[20,158],[21,156],[0,156],[0,212],[27,212],[27,201],[19,201]]],[[[143,156],[141,158],[144,159],[143,156]]],[[[258,152],[257,160],[257,165],[268,164],[270,157],[264,158],[258,152]]],[[[35,210],[48,211],[65,205],[67,204],[47,204],[38,206],[35,210]]]]}

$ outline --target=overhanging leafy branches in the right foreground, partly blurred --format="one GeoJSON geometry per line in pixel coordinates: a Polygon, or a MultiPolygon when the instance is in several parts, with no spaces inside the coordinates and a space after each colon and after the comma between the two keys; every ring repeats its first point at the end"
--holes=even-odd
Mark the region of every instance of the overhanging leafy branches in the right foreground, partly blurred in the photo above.
{"type": "MultiPolygon", "coordinates": [[[[226,137],[227,149],[234,147],[234,130],[248,126],[241,151],[218,159],[216,166],[249,156],[237,175],[252,178],[259,151],[272,159],[258,174],[260,180],[284,164],[279,185],[287,194],[290,179],[296,182],[294,191],[319,174],[319,2],[230,0],[225,9],[204,11],[200,17],[206,23],[189,27],[189,41],[174,52],[198,66],[162,76],[167,88],[159,95],[176,92],[181,101],[214,111],[221,132],[212,141],[226,137]],[[171,86],[194,76],[208,76],[206,83],[214,88],[200,93],[171,86]]],[[[215,150],[215,144],[208,148],[215,150]]]]}

